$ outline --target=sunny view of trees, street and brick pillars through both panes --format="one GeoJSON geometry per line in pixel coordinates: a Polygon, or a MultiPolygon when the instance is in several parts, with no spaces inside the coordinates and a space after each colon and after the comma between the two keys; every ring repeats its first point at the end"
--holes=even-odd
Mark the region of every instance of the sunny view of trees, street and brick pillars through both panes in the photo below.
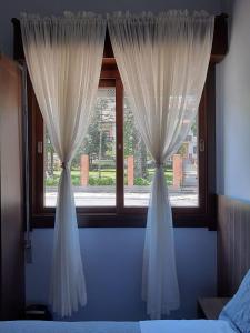
{"type": "MultiPolygon", "coordinates": [[[[99,88],[87,138],[71,164],[77,206],[116,206],[116,89],[99,88]]],[[[171,204],[198,205],[198,123],[164,167],[171,204]]],[[[49,135],[44,140],[44,205],[57,203],[60,161],[49,135]]],[[[124,206],[147,206],[154,164],[137,130],[127,98],[123,103],[124,206]]]]}

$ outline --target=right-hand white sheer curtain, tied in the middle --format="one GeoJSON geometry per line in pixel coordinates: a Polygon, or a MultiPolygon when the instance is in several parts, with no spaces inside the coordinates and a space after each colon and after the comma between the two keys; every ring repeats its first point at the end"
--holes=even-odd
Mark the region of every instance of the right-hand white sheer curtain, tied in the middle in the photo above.
{"type": "Polygon", "coordinates": [[[142,297],[160,319],[179,307],[172,214],[163,164],[181,145],[200,102],[213,17],[169,11],[108,18],[121,79],[142,139],[156,161],[143,253],[142,297]]]}

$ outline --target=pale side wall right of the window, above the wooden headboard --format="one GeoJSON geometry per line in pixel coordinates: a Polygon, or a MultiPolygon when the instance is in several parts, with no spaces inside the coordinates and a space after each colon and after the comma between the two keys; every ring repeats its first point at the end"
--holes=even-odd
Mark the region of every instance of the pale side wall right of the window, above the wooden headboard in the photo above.
{"type": "Polygon", "coordinates": [[[229,53],[217,71],[218,191],[250,200],[250,0],[223,1],[229,53]]]}

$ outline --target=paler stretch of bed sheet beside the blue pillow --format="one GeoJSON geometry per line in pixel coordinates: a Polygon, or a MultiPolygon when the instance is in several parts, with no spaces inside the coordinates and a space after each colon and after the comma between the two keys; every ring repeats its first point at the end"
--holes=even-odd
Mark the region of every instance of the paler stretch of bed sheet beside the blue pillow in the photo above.
{"type": "Polygon", "coordinates": [[[141,333],[236,333],[227,321],[160,320],[140,322],[141,333]]]}

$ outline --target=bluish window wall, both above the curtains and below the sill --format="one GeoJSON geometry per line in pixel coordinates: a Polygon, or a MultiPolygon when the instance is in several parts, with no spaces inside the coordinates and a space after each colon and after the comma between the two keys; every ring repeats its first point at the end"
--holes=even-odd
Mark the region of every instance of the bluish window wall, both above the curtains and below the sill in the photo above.
{"type": "MultiPolygon", "coordinates": [[[[204,9],[220,12],[218,0],[1,0],[0,50],[12,53],[10,19],[19,12],[41,14],[63,10],[161,11],[204,9]]],[[[176,317],[196,316],[197,297],[216,295],[216,233],[206,229],[176,229],[181,309],[176,317]]],[[[88,305],[74,320],[139,320],[146,316],[140,299],[143,229],[81,229],[80,241],[88,285],[88,305]]],[[[34,230],[33,263],[27,264],[27,301],[46,302],[52,251],[52,230],[34,230]]]]}

